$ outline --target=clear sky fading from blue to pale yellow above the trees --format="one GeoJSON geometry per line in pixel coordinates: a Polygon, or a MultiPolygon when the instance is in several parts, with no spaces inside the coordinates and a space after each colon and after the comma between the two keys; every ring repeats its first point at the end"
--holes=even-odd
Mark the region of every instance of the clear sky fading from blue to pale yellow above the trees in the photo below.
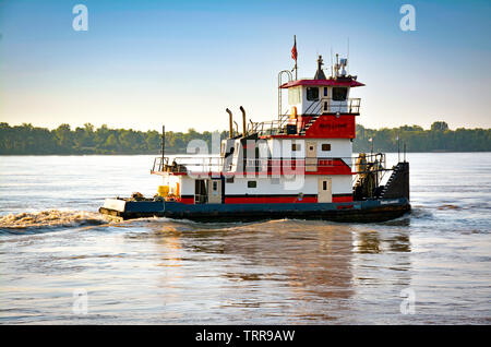
{"type": "Polygon", "coordinates": [[[490,34],[489,0],[0,0],[0,121],[213,131],[240,106],[272,120],[296,35],[309,79],[349,40],[364,127],[491,128],[490,34]],[[416,31],[400,29],[406,3],[416,31]],[[76,4],[87,31],[72,26],[76,4]]]}

